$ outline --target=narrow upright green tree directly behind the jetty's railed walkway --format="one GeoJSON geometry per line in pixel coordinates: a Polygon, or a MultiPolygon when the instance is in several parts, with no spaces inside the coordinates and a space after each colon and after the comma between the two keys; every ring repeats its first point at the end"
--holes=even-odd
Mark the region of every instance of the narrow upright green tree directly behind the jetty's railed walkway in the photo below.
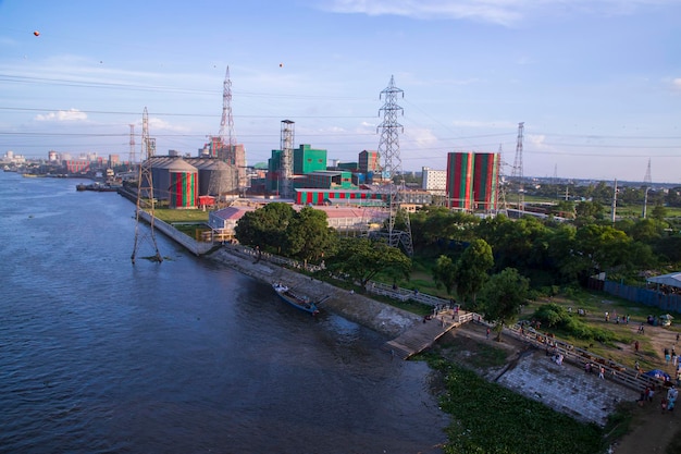
{"type": "Polygon", "coordinates": [[[475,307],[475,296],[487,280],[487,271],[494,267],[492,247],[484,240],[475,240],[463,250],[456,265],[457,295],[467,300],[469,308],[475,307]]]}

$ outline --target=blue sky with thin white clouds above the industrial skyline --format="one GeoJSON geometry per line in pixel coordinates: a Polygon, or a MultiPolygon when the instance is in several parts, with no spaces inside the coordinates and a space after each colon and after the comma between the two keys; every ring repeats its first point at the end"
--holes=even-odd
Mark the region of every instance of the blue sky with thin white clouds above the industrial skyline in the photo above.
{"type": "Polygon", "coordinates": [[[376,149],[391,76],[406,171],[503,152],[523,174],[681,182],[680,0],[0,1],[0,155],[196,156],[230,66],[249,164],[376,149]],[[39,36],[34,36],[34,30],[39,36]]]}

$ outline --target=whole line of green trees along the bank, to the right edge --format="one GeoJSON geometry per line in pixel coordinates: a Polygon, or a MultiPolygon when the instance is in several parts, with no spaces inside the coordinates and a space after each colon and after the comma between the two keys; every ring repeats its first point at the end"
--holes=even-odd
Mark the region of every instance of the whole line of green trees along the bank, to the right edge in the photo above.
{"type": "MultiPolygon", "coordinates": [[[[430,263],[433,280],[465,307],[488,320],[508,322],[533,287],[570,285],[597,272],[634,279],[642,270],[681,261],[681,236],[657,219],[611,224],[578,205],[574,223],[550,218],[480,219],[443,207],[410,217],[414,259],[430,263]]],[[[362,287],[376,277],[408,280],[412,261],[401,250],[367,237],[340,237],[326,213],[273,203],[246,213],[236,226],[242,244],[304,261],[362,287]]]]}

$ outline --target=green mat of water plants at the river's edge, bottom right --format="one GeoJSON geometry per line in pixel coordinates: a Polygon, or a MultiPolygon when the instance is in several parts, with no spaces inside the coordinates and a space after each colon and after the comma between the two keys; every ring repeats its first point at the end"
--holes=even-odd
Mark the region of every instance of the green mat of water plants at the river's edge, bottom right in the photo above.
{"type": "Polygon", "coordinates": [[[443,358],[426,358],[444,373],[441,407],[454,418],[446,454],[604,452],[604,431],[596,425],[579,422],[443,358]]]}

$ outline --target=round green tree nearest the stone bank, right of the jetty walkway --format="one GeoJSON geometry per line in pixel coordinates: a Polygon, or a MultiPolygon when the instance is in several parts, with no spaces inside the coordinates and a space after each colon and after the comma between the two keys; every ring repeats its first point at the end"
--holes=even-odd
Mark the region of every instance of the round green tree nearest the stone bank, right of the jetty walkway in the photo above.
{"type": "Polygon", "coordinates": [[[492,275],[480,292],[482,316],[495,323],[497,342],[502,340],[502,330],[518,318],[521,306],[528,298],[530,281],[520,275],[515,268],[506,268],[492,275]]]}

